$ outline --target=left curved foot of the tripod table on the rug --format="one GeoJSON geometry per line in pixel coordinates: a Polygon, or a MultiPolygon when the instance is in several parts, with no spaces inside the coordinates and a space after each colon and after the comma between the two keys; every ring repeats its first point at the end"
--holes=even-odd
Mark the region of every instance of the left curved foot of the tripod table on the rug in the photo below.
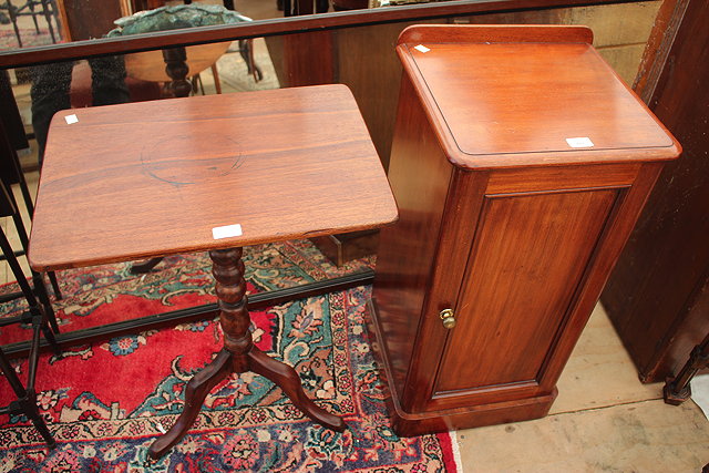
{"type": "Polygon", "coordinates": [[[153,442],[148,450],[148,456],[151,459],[160,459],[185,436],[187,430],[189,430],[197,418],[202,409],[202,403],[209,391],[212,391],[212,388],[230,372],[232,353],[227,350],[222,350],[205,369],[189,380],[185,389],[185,408],[167,433],[153,442]]]}

